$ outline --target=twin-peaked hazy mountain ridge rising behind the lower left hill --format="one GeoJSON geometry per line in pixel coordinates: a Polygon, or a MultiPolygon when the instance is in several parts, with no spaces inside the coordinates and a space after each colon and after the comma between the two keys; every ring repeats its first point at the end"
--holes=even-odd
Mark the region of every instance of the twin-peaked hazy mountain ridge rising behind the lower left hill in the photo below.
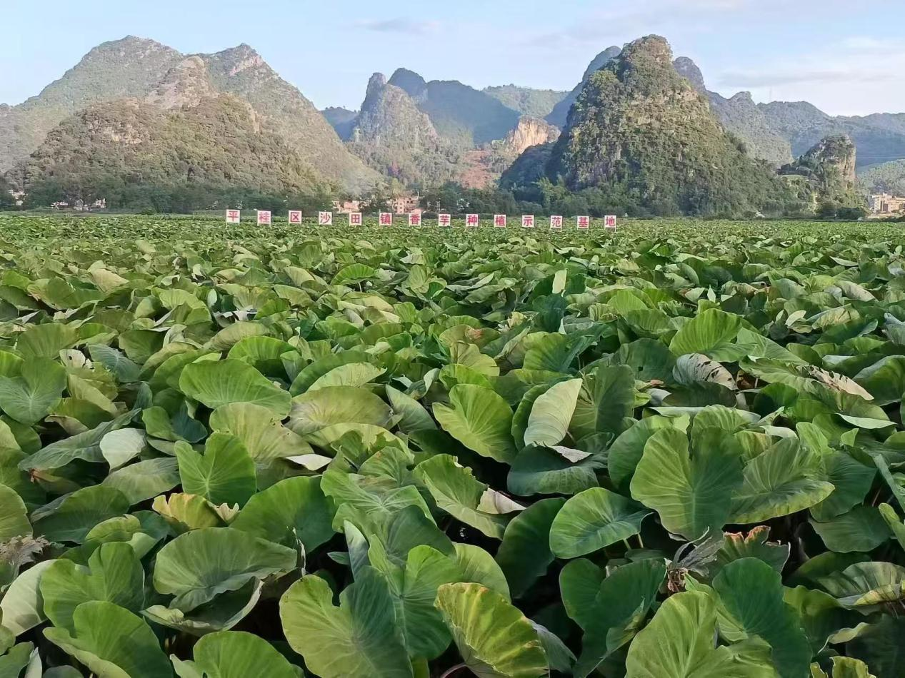
{"type": "MultiPolygon", "coordinates": [[[[20,106],[0,109],[0,163],[9,169],[41,146],[53,127],[89,106],[143,99],[144,105],[162,109],[186,107],[186,116],[191,118],[191,110],[216,94],[233,94],[247,102],[259,123],[266,121],[263,128],[282,137],[293,159],[308,165],[306,173],[313,172],[319,182],[330,181],[358,191],[376,181],[377,174],[348,152],[311,102],[248,45],[186,58],[157,42],[134,37],[105,42],[37,97],[20,106]]],[[[116,108],[118,113],[123,110],[116,108]]],[[[99,108],[92,108],[90,118],[99,113],[99,108]]],[[[159,120],[151,118],[146,122],[154,127],[159,120]]],[[[230,121],[234,119],[224,118],[227,127],[230,121]]],[[[67,129],[76,134],[81,127],[67,129]]],[[[214,136],[219,131],[213,130],[214,136]]],[[[61,140],[59,134],[53,138],[61,140]]],[[[98,138],[83,141],[91,143],[98,138]]],[[[275,147],[271,142],[265,146],[275,147]]],[[[43,147],[43,154],[41,166],[46,166],[52,147],[43,147]]],[[[134,160],[134,155],[124,157],[134,160]]]]}

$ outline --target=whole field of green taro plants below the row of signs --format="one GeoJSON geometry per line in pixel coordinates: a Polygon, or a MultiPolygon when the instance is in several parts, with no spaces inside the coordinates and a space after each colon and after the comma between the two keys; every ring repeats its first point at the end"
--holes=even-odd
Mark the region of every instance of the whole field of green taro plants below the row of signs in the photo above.
{"type": "Polygon", "coordinates": [[[9,678],[905,674],[900,229],[0,232],[9,678]]]}

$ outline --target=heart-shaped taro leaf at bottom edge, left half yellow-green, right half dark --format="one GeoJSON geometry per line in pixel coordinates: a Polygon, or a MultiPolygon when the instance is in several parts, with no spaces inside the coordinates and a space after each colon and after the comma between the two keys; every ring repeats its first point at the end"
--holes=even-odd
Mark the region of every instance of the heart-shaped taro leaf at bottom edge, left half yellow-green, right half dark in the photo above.
{"type": "Polygon", "coordinates": [[[393,598],[376,570],[365,568],[333,604],[329,584],[315,575],[280,599],[283,633],[321,678],[413,678],[393,598]]]}

